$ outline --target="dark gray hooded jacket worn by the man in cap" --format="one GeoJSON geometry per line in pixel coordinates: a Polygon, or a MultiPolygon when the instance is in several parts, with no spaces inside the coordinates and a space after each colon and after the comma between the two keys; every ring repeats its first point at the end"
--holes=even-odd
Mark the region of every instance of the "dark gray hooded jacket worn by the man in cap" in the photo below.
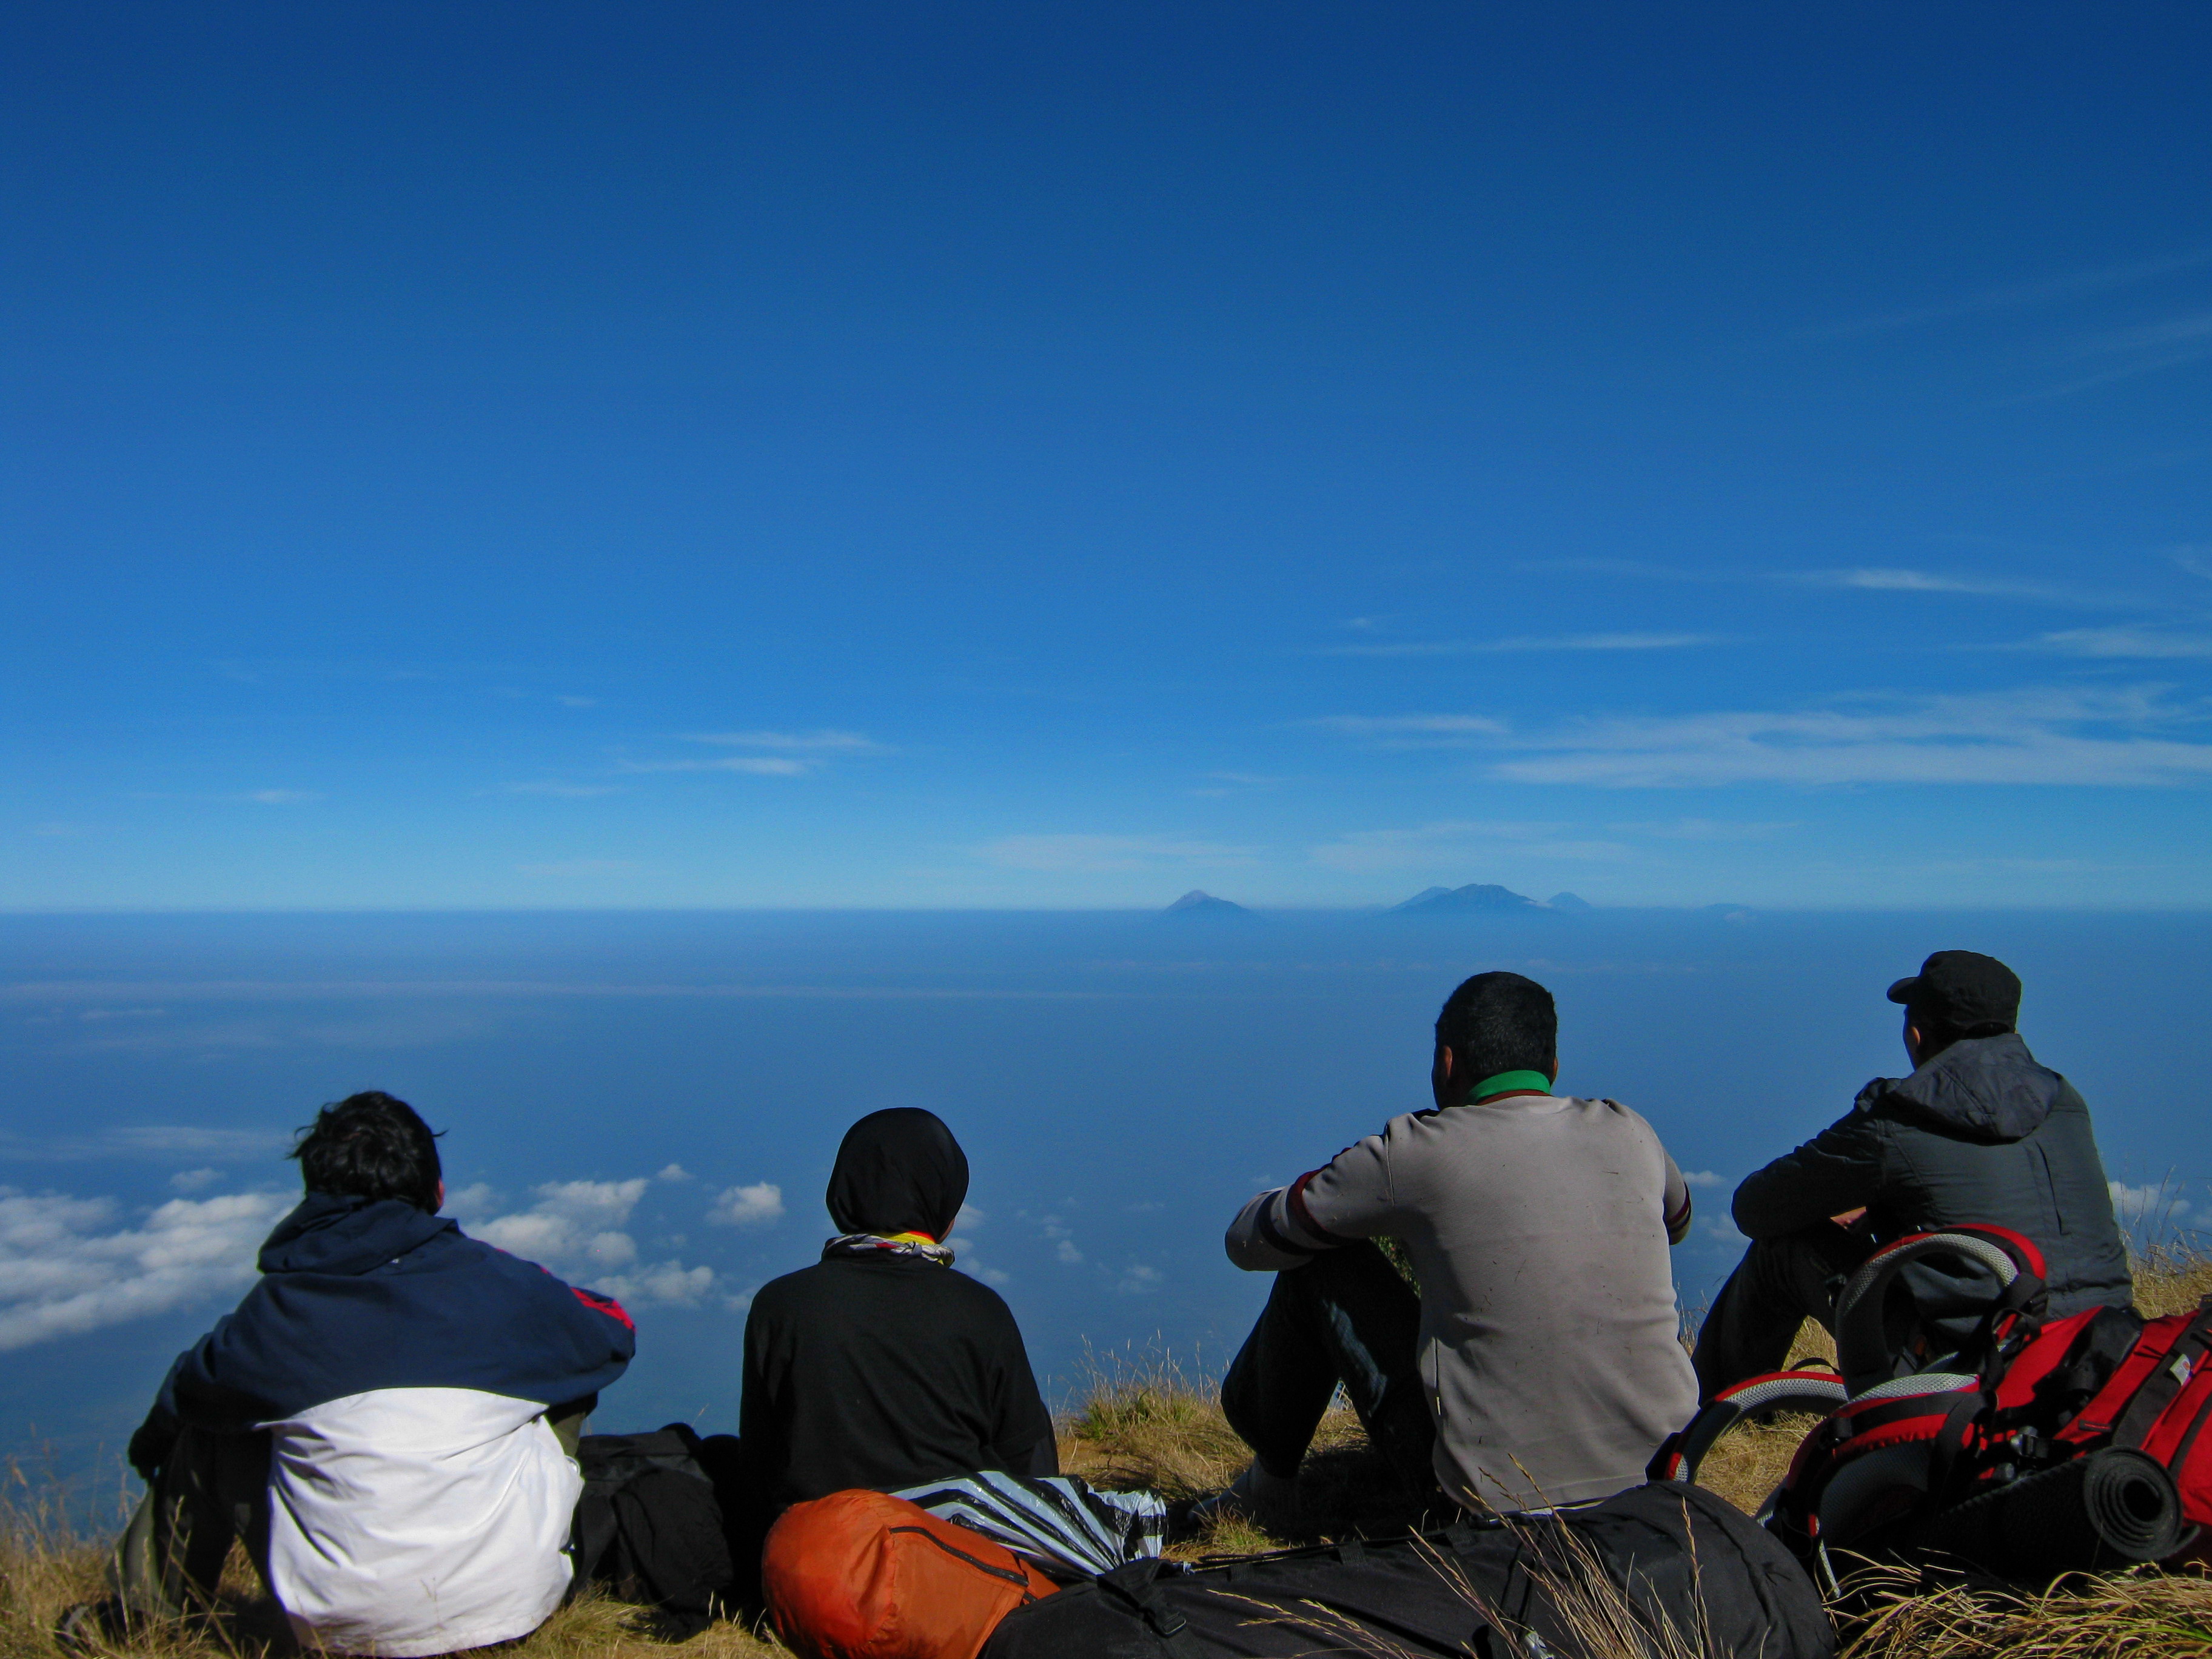
{"type": "Polygon", "coordinates": [[[1778,1239],[1865,1206],[1876,1237],[1986,1221],[2044,1252],[2051,1314],[2135,1298],[2112,1192],[2075,1086],[2017,1033],[1966,1037],[1736,1188],[1736,1228],[1778,1239]]]}

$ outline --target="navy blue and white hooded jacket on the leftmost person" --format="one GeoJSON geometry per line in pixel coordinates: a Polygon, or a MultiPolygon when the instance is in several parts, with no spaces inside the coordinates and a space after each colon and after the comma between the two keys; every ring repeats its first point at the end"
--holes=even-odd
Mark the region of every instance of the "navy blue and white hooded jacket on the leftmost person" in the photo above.
{"type": "Polygon", "coordinates": [[[535,1630],[584,1489],[544,1422],[630,1316],[396,1199],[310,1192],[177,1356],[148,1431],[270,1431],[270,1590],[310,1646],[418,1659],[535,1630]]]}

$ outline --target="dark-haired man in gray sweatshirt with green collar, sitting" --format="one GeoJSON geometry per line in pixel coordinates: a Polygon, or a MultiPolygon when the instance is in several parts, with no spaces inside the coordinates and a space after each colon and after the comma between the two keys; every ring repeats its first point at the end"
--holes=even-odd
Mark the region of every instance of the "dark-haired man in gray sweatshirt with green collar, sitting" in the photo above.
{"type": "Polygon", "coordinates": [[[1542,984],[1478,973],[1436,1018],[1433,1110],[1239,1212],[1230,1261],[1274,1274],[1221,1383],[1254,1458],[1201,1522],[1292,1531],[1338,1387],[1409,1495],[1482,1511],[1635,1486],[1697,1409],[1668,1265],[1690,1190],[1632,1110],[1553,1093],[1557,1026],[1542,984]]]}

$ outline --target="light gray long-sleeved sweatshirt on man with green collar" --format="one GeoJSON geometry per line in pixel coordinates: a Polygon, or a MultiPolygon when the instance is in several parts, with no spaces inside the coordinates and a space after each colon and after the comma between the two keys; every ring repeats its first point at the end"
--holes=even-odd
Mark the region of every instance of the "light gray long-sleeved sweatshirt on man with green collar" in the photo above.
{"type": "Polygon", "coordinates": [[[1436,1478],[1467,1506],[1542,1509],[1644,1480],[1697,1411],[1668,1243],[1690,1188],[1610,1099],[1509,1095],[1394,1117],[1230,1225],[1230,1261],[1303,1267],[1391,1237],[1420,1274],[1436,1478]]]}

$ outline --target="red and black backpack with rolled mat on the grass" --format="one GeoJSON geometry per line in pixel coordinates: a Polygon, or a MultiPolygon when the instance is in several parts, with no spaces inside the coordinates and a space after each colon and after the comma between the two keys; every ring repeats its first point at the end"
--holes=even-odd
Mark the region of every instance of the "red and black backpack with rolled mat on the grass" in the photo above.
{"type": "Polygon", "coordinates": [[[2212,1298],[2143,1321],[2128,1307],[2044,1314],[2044,1261],[2008,1228],[1913,1234],[1836,1296],[1840,1376],[1776,1371],[1719,1394],[1650,1473],[1694,1480],[1747,1416],[1814,1411],[1759,1517],[1823,1579],[1834,1551],[1949,1555],[2006,1577],[2168,1559],[2212,1524],[2212,1298]],[[1953,1345],[1911,1285],[1962,1285],[1980,1314],[1953,1345]],[[1918,1369],[1913,1369],[1918,1367],[1918,1369]]]}

